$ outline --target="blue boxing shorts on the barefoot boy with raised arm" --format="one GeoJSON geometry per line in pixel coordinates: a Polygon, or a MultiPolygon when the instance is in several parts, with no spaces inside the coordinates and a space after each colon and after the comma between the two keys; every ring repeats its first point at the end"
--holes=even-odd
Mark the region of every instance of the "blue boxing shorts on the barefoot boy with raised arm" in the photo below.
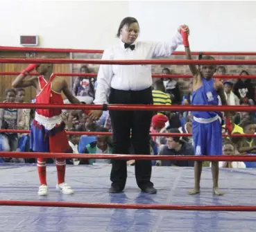
{"type": "Polygon", "coordinates": [[[195,155],[222,154],[222,128],[219,119],[211,123],[192,121],[195,155]]]}

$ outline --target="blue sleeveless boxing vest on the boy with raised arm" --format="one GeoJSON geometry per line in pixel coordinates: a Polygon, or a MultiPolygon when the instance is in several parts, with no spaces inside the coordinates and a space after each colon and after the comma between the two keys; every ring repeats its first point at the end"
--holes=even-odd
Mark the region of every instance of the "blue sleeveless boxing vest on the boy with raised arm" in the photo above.
{"type": "MultiPolygon", "coordinates": [[[[214,89],[214,79],[206,80],[202,78],[202,86],[193,92],[191,105],[219,105],[218,94],[214,89]]],[[[192,111],[196,118],[214,118],[220,112],[214,111],[192,111]]]]}

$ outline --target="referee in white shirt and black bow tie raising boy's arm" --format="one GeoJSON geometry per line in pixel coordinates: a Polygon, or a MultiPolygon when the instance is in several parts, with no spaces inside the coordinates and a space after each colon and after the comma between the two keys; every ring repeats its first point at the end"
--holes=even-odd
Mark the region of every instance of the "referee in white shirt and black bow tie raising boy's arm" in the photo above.
{"type": "MultiPolygon", "coordinates": [[[[120,42],[107,48],[102,59],[148,60],[169,57],[182,44],[180,30],[181,26],[173,38],[167,38],[167,42],[137,42],[139,23],[133,17],[126,17],[117,30],[120,42]]],[[[183,30],[189,32],[187,26],[183,30]]],[[[97,83],[95,104],[153,105],[151,65],[103,64],[99,68],[97,83]]],[[[89,116],[95,121],[101,114],[101,110],[92,110],[89,116]]],[[[131,144],[135,154],[150,154],[149,129],[152,116],[152,111],[110,111],[113,154],[130,154],[131,144]]],[[[143,192],[155,194],[157,190],[151,182],[151,170],[150,160],[135,162],[137,185],[143,192]]],[[[126,161],[113,159],[110,193],[120,193],[126,186],[126,178],[126,161]]]]}

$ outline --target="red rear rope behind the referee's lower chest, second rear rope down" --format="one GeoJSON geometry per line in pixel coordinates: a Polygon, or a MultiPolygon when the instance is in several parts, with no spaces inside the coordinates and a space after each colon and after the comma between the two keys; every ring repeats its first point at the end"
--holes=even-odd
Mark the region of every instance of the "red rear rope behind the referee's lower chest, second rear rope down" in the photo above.
{"type": "MultiPolygon", "coordinates": [[[[19,75],[19,72],[1,72],[0,75],[19,75]]],[[[29,75],[39,75],[38,73],[29,73],[29,75]]],[[[55,73],[58,76],[80,76],[80,77],[91,77],[94,78],[98,74],[97,73],[55,73]]],[[[180,74],[153,74],[152,78],[192,78],[192,75],[180,75],[180,74]]],[[[241,78],[241,75],[214,75],[214,78],[222,78],[222,79],[233,79],[233,78],[241,78]]],[[[246,78],[256,79],[256,75],[246,75],[246,78]]]]}

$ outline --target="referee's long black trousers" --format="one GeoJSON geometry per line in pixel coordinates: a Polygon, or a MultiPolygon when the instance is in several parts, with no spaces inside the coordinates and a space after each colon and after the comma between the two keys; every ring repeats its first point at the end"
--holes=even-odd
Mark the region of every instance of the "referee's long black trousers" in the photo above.
{"type": "MultiPolygon", "coordinates": [[[[141,91],[110,89],[110,104],[153,105],[151,87],[141,91]]],[[[135,154],[150,154],[150,125],[153,111],[110,111],[113,132],[113,153],[130,154],[133,145],[135,154]],[[132,136],[130,137],[130,132],[132,136]]],[[[135,161],[135,177],[139,188],[153,186],[151,182],[151,161],[135,161]]],[[[123,190],[126,186],[126,160],[112,160],[110,180],[112,187],[123,190]]]]}

